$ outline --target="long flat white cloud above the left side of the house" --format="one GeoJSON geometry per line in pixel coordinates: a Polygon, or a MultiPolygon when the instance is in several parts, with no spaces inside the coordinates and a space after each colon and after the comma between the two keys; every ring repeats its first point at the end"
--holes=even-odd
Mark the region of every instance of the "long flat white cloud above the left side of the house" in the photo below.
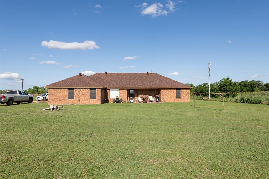
{"type": "Polygon", "coordinates": [[[84,42],[58,42],[58,41],[43,41],[41,42],[41,46],[46,46],[48,48],[58,48],[58,49],[82,49],[82,50],[86,50],[86,49],[94,49],[94,48],[100,48],[96,45],[95,42],[93,41],[84,41],[84,42]]]}

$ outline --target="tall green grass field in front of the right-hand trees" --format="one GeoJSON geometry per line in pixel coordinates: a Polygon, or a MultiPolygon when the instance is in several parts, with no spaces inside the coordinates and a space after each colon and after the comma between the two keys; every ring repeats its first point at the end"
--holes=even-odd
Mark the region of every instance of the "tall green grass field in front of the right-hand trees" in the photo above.
{"type": "MultiPolygon", "coordinates": [[[[194,99],[194,96],[191,96],[191,99],[194,99]]],[[[207,100],[202,95],[196,96],[196,99],[207,100]]],[[[210,98],[211,101],[222,101],[221,96],[215,96],[210,98]]],[[[269,105],[269,91],[261,92],[242,92],[239,93],[236,97],[225,97],[226,102],[236,102],[236,103],[249,103],[249,104],[264,104],[269,105]]]]}

